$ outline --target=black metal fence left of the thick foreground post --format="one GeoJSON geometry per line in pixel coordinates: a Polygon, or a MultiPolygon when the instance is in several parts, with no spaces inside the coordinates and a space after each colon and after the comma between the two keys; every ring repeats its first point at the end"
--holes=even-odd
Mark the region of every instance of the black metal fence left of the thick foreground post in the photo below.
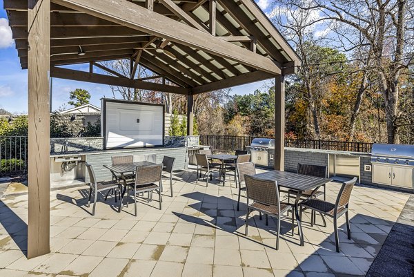
{"type": "Polygon", "coordinates": [[[0,136],[0,176],[26,173],[28,169],[28,137],[0,136]]]}

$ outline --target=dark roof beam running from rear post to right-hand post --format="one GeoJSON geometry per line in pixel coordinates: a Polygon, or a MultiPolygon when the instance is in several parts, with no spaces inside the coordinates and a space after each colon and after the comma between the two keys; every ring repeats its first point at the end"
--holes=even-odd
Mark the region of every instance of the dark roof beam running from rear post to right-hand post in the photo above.
{"type": "Polygon", "coordinates": [[[266,73],[266,72],[257,70],[257,71],[253,71],[249,73],[244,73],[239,76],[230,77],[228,79],[224,79],[224,80],[217,81],[214,83],[205,84],[202,86],[196,86],[195,88],[191,88],[191,93],[193,95],[196,95],[199,93],[206,93],[212,90],[219,90],[223,88],[230,88],[232,86],[239,86],[242,84],[258,82],[258,81],[270,79],[273,77],[275,77],[275,75],[271,73],[266,73]]]}

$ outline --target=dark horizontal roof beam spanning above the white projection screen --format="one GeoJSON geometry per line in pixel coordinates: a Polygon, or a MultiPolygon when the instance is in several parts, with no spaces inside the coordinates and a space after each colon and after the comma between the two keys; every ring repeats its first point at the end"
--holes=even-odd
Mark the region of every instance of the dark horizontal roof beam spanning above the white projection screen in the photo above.
{"type": "Polygon", "coordinates": [[[165,84],[132,80],[129,78],[114,77],[97,73],[88,73],[68,68],[52,67],[50,68],[50,77],[70,79],[81,82],[90,82],[96,84],[106,84],[110,86],[125,86],[128,88],[164,91],[166,93],[178,93],[184,95],[188,94],[188,88],[182,88],[179,86],[169,86],[165,84]]]}

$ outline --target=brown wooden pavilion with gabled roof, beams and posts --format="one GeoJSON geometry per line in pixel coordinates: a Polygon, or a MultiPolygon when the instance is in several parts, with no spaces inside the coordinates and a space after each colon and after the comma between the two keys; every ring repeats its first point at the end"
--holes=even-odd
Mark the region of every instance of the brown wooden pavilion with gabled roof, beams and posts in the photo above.
{"type": "Polygon", "coordinates": [[[50,252],[49,77],[179,93],[275,78],[275,168],[284,169],[284,76],[300,59],[254,0],[4,0],[28,69],[28,258],[50,252]],[[130,76],[97,61],[130,59],[130,76]],[[89,63],[89,72],[61,66],[89,63]],[[141,65],[172,84],[136,79],[141,65]],[[93,72],[94,66],[113,76],[93,72]]]}

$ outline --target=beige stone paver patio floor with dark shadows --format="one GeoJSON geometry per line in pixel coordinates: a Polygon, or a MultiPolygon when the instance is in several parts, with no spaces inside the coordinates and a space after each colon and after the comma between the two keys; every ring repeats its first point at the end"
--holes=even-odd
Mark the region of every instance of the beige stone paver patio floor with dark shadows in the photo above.
{"type": "MultiPolygon", "coordinates": [[[[229,177],[228,179],[232,179],[229,177]]],[[[165,181],[167,184],[167,180],[165,181]]],[[[352,239],[339,219],[341,252],[335,252],[333,223],[317,216],[310,227],[304,213],[305,246],[282,222],[275,250],[275,221],[255,213],[244,236],[246,206],[237,211],[233,180],[221,187],[213,180],[195,184],[194,171],[175,173],[174,197],[165,186],[163,209],[157,196],[139,200],[121,213],[103,197],[95,216],[85,207],[86,187],[50,193],[51,253],[27,260],[27,195],[8,195],[0,202],[0,276],[364,276],[408,200],[408,193],[355,187],[351,196],[352,239]],[[153,207],[152,207],[153,206],[153,207]]],[[[326,186],[334,202],[340,184],[326,186]]],[[[242,203],[245,199],[242,198],[242,203]]]]}

